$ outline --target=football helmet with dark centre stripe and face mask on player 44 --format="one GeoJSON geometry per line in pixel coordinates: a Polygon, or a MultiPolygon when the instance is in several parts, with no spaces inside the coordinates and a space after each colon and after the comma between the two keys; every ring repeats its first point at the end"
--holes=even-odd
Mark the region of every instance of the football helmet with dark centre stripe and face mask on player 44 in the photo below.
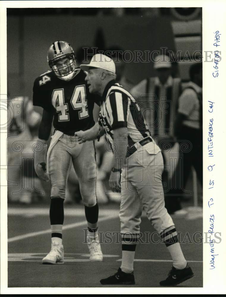
{"type": "Polygon", "coordinates": [[[74,76],[76,58],[74,50],[68,42],[53,42],[48,49],[47,61],[59,78],[69,80],[74,76]]]}

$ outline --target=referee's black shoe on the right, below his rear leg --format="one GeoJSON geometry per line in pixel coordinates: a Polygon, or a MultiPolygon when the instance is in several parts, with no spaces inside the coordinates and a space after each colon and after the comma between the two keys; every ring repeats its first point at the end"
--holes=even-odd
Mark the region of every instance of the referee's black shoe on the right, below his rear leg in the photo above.
{"type": "Polygon", "coordinates": [[[187,264],[184,269],[176,269],[172,267],[170,270],[167,279],[159,282],[160,286],[176,286],[185,280],[192,278],[194,273],[192,272],[192,268],[187,264]]]}

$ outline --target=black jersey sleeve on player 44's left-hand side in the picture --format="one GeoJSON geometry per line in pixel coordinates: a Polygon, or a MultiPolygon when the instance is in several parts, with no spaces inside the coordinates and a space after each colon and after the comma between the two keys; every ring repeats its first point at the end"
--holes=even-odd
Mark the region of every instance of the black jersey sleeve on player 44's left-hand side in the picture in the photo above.
{"type": "Polygon", "coordinates": [[[52,111],[53,106],[50,104],[47,94],[44,90],[40,89],[39,78],[34,81],[33,86],[33,105],[40,106],[46,111],[52,111]]]}

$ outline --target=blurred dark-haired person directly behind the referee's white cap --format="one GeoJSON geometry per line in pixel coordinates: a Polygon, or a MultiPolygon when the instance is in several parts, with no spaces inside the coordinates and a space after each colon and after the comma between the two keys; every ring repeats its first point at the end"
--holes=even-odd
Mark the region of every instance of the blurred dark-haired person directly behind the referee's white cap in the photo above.
{"type": "Polygon", "coordinates": [[[105,51],[106,56],[113,59],[116,67],[116,82],[123,86],[124,89],[130,91],[133,83],[125,76],[126,63],[122,59],[123,49],[118,46],[111,46],[105,51]]]}

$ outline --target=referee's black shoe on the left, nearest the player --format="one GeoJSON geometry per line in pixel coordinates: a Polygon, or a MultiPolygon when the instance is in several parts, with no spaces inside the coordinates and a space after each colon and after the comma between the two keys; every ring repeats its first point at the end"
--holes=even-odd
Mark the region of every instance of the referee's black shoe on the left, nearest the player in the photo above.
{"type": "Polygon", "coordinates": [[[118,268],[118,271],[106,278],[100,280],[101,285],[135,285],[135,279],[133,272],[125,273],[121,271],[121,268],[118,268]]]}

